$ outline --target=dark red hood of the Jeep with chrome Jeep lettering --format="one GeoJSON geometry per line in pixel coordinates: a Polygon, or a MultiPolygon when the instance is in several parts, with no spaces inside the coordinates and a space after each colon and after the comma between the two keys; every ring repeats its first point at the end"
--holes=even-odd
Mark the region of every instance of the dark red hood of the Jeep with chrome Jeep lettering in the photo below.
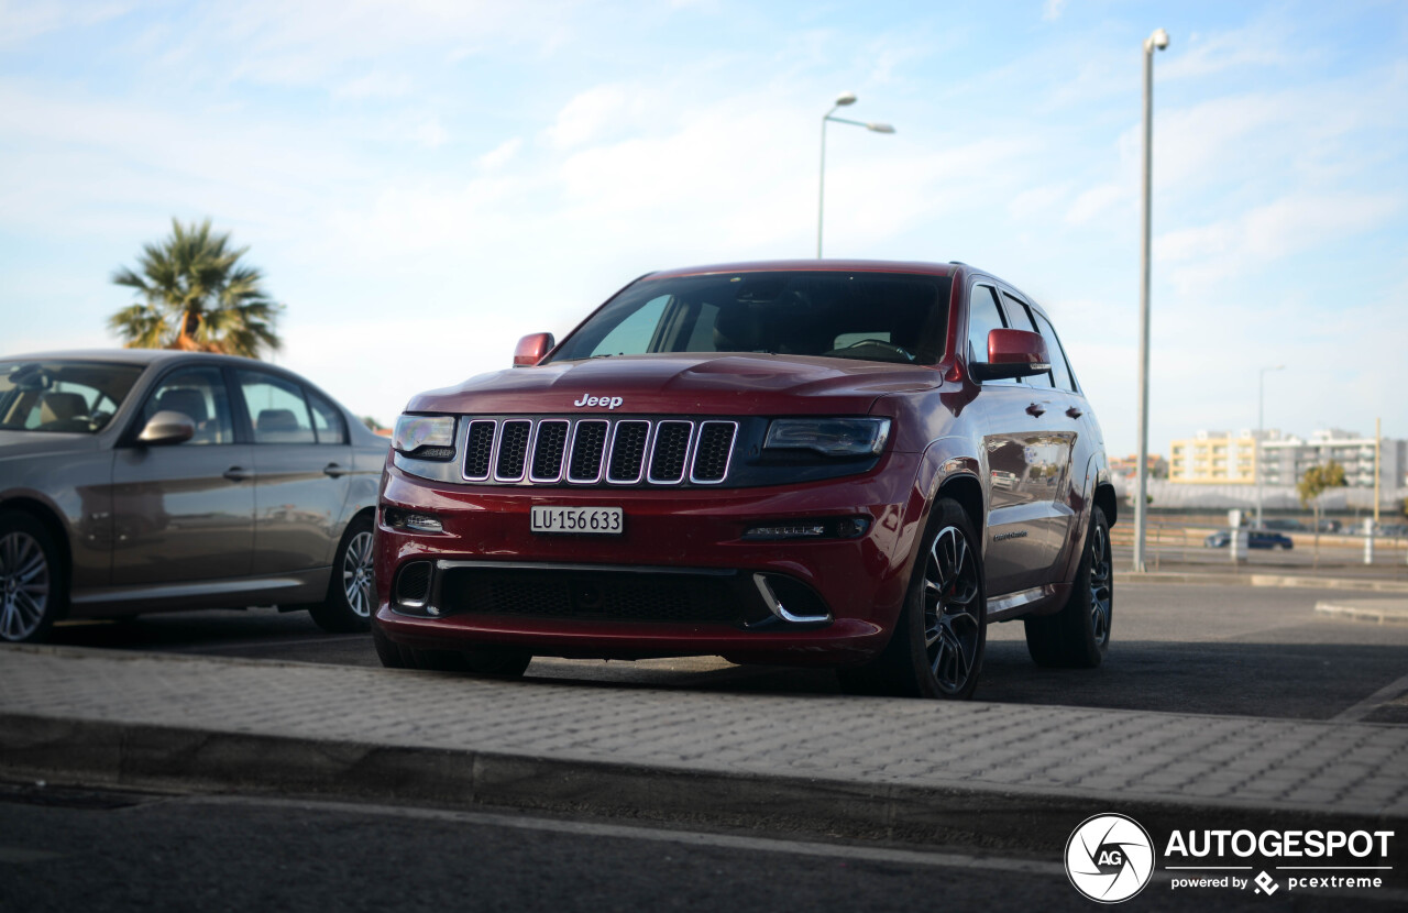
{"type": "Polygon", "coordinates": [[[629,355],[479,375],[421,393],[407,409],[462,414],[866,414],[886,393],[932,390],[942,380],[932,368],[838,358],[629,355]]]}

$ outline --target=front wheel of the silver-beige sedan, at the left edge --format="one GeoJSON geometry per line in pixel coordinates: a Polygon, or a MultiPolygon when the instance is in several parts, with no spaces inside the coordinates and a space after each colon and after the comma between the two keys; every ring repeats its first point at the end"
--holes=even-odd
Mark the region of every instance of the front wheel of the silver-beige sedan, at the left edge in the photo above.
{"type": "Polygon", "coordinates": [[[48,638],[68,602],[68,580],[48,528],[18,510],[0,513],[0,642],[48,638]]]}

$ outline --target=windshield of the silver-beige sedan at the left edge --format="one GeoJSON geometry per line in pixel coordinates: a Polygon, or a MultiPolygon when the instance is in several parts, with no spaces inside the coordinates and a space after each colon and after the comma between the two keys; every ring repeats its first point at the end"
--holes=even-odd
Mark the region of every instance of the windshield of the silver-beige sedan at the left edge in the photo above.
{"type": "Polygon", "coordinates": [[[82,361],[0,362],[0,430],[100,431],[142,373],[142,365],[82,361]]]}

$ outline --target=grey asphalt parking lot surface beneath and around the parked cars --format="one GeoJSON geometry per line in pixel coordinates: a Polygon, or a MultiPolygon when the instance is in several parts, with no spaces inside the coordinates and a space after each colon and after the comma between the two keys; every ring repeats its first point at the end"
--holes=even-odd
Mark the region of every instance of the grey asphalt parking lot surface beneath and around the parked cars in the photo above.
{"type": "MultiPolygon", "coordinates": [[[[1328,617],[1339,590],[1133,583],[1117,590],[1114,642],[1093,671],[1029,661],[1019,623],[988,633],[976,697],[1267,719],[1408,723],[1408,624],[1328,617]]],[[[1402,602],[1402,596],[1381,596],[1402,602]]],[[[190,611],[68,623],[55,642],[113,650],[376,666],[366,635],[328,635],[303,613],[190,611]]],[[[818,669],[735,666],[717,657],[600,662],[539,658],[529,678],[594,688],[838,693],[818,669]]]]}

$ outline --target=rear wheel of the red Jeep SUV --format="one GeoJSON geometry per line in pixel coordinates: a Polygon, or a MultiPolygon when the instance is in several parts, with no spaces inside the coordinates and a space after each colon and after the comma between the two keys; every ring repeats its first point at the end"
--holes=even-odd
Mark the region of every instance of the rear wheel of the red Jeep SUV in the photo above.
{"type": "Polygon", "coordinates": [[[1115,609],[1115,575],[1110,557],[1110,524],[1095,507],[1070,597],[1060,611],[1026,619],[1026,652],[1039,666],[1094,669],[1110,648],[1115,609]]]}

